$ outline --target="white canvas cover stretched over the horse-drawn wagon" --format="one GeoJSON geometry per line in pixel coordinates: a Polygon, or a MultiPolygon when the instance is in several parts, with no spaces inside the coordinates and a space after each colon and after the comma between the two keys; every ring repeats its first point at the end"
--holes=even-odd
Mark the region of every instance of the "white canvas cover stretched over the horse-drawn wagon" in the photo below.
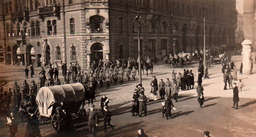
{"type": "Polygon", "coordinates": [[[53,102],[64,102],[69,105],[83,100],[85,100],[85,89],[81,83],[42,87],[36,96],[39,113],[46,117],[51,116],[53,108],[50,105],[53,102]]]}

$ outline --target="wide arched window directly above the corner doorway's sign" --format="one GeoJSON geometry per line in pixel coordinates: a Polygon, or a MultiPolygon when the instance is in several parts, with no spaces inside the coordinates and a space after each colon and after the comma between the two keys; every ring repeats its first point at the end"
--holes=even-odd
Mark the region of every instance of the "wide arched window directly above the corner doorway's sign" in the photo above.
{"type": "Polygon", "coordinates": [[[101,16],[90,17],[91,32],[92,33],[103,33],[103,22],[105,18],[101,16]]]}

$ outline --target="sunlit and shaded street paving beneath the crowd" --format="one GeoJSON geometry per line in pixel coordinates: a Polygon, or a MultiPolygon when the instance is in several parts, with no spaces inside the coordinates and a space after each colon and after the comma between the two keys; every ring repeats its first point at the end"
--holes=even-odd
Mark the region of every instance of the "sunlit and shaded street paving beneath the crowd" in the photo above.
{"type": "MultiPolygon", "coordinates": [[[[239,69],[242,56],[233,56],[232,60],[239,69]]],[[[189,64],[187,68],[192,68],[195,76],[195,85],[197,85],[197,65],[198,63],[189,64]]],[[[6,90],[8,87],[12,87],[14,81],[17,81],[21,87],[23,83],[25,72],[24,66],[5,66],[1,64],[0,78],[5,79],[7,82],[3,88],[6,90]]],[[[178,69],[165,69],[164,65],[157,63],[154,66],[153,75],[156,76],[158,82],[160,78],[166,81],[166,78],[171,78],[172,70],[183,72],[184,68],[178,69]]],[[[48,69],[45,69],[48,72],[48,69]]],[[[204,97],[206,99],[203,108],[198,105],[196,96],[196,87],[188,91],[180,91],[178,102],[174,103],[175,108],[172,110],[174,115],[173,119],[166,121],[165,118],[161,118],[161,102],[163,100],[147,102],[148,115],[142,118],[132,117],[130,113],[131,98],[133,90],[138,84],[138,76],[136,81],[124,80],[124,84],[120,85],[111,84],[109,89],[104,85],[103,88],[97,88],[96,93],[100,94],[96,98],[96,108],[100,108],[100,98],[102,95],[106,95],[109,98],[109,109],[113,116],[111,117],[112,125],[116,125],[114,130],[108,128],[108,133],[103,133],[104,127],[102,119],[99,120],[99,127],[97,128],[97,136],[136,136],[137,130],[143,128],[148,136],[203,136],[203,131],[210,131],[211,136],[256,136],[256,94],[255,92],[255,76],[256,69],[253,69],[253,74],[250,76],[238,74],[238,80],[242,79],[244,88],[242,92],[239,92],[239,109],[233,110],[231,108],[233,104],[233,90],[223,90],[224,82],[223,75],[221,73],[221,64],[213,65],[209,67],[210,79],[203,79],[204,97]],[[241,131],[241,132],[240,132],[241,131]],[[245,133],[254,132],[254,133],[245,133]]],[[[38,81],[38,73],[40,67],[35,68],[35,77],[26,79],[29,85],[31,80],[38,81]]],[[[144,70],[145,71],[145,70],[144,70]]],[[[30,74],[30,73],[29,73],[30,74]]],[[[60,74],[62,74],[60,72],[60,74]]],[[[29,75],[30,76],[30,75],[29,75]]],[[[60,76],[62,80],[62,76],[60,76]]],[[[148,77],[142,75],[142,85],[145,88],[145,95],[150,96],[150,80],[151,75],[148,77]]],[[[88,108],[88,105],[85,106],[88,108]]],[[[101,112],[99,112],[101,115],[101,112]]],[[[25,123],[19,125],[18,133],[16,136],[23,136],[25,131],[25,123]]],[[[0,136],[9,136],[9,129],[6,127],[6,117],[1,114],[0,136]]],[[[75,124],[76,132],[70,136],[91,136],[88,132],[88,126],[85,122],[75,124]]],[[[40,126],[42,136],[54,136],[56,134],[50,120],[46,124],[40,126]]]]}

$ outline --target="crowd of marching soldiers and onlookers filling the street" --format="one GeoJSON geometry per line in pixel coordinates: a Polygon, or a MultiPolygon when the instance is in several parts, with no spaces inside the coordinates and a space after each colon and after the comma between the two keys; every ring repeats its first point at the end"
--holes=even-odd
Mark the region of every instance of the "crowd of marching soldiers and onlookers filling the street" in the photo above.
{"type": "MultiPolygon", "coordinates": [[[[182,54],[178,55],[169,55],[166,56],[164,59],[165,64],[168,62],[172,64],[172,67],[184,67],[184,59],[188,56],[181,56],[182,54]],[[174,60],[179,60],[178,62],[174,60]]],[[[195,51],[193,58],[197,61],[199,61],[198,71],[197,71],[197,100],[201,108],[203,108],[203,86],[202,86],[202,78],[209,78],[208,74],[208,64],[206,66],[203,65],[203,59],[202,59],[202,50],[200,53],[198,51],[195,51]]],[[[212,56],[209,55],[210,63],[212,56]]],[[[154,62],[157,62],[157,58],[154,59],[154,62]]],[[[229,84],[230,89],[233,89],[234,93],[234,104],[233,108],[238,109],[238,87],[239,90],[242,91],[242,81],[238,83],[238,87],[236,86],[236,83],[234,82],[232,86],[232,80],[237,80],[237,69],[234,64],[234,62],[231,60],[231,56],[226,57],[224,55],[221,58],[221,63],[223,65],[222,67],[222,73],[224,77],[224,90],[227,89],[227,82],[229,84]],[[233,72],[233,75],[231,74],[233,72]]],[[[146,63],[142,62],[142,69],[144,64],[152,64],[151,60],[148,58],[146,63]]],[[[166,64],[166,65],[167,65],[166,64]]],[[[69,83],[82,83],[84,87],[90,88],[90,90],[93,90],[95,93],[95,90],[97,89],[98,85],[99,88],[102,88],[104,84],[107,88],[110,87],[110,84],[113,83],[114,85],[117,83],[118,80],[120,80],[120,85],[124,83],[124,77],[127,77],[127,81],[130,81],[130,76],[132,76],[133,81],[136,80],[136,74],[138,71],[138,60],[133,60],[128,58],[127,60],[116,60],[116,62],[112,62],[112,60],[99,60],[99,62],[96,63],[96,61],[93,61],[91,68],[88,69],[86,72],[84,70],[81,70],[81,67],[79,64],[70,64],[69,69],[67,69],[66,63],[63,63],[62,66],[58,66],[57,63],[49,63],[49,71],[48,71],[48,79],[46,78],[46,71],[44,67],[41,67],[41,76],[39,77],[38,83],[36,84],[34,80],[31,81],[31,86],[29,87],[29,84],[26,80],[23,81],[22,89],[20,90],[20,86],[15,81],[14,86],[12,88],[8,88],[7,91],[3,91],[3,88],[0,88],[0,109],[3,112],[6,112],[7,117],[11,119],[11,121],[8,121],[8,124],[10,126],[10,132],[11,136],[15,136],[15,133],[17,132],[17,117],[21,116],[23,119],[27,119],[27,127],[26,127],[26,136],[40,136],[40,130],[39,130],[39,122],[37,120],[37,117],[35,115],[36,111],[36,95],[38,90],[43,86],[54,86],[54,85],[64,85],[69,83]],[[63,81],[61,82],[59,80],[59,68],[62,69],[62,76],[64,76],[63,81]]],[[[153,66],[153,64],[152,64],[153,66]]],[[[167,67],[167,66],[166,66],[167,67]]],[[[242,67],[242,65],[241,65],[242,67]]],[[[240,73],[242,69],[240,68],[240,73]]],[[[29,69],[26,67],[25,71],[25,78],[28,78],[29,75],[29,69]]],[[[34,66],[31,64],[30,66],[30,75],[33,77],[34,75],[34,66]]],[[[173,101],[178,102],[178,92],[181,90],[190,90],[194,89],[194,74],[192,73],[192,68],[188,69],[185,68],[183,72],[178,72],[178,74],[175,72],[175,70],[171,73],[171,80],[169,78],[166,78],[166,81],[161,78],[160,82],[157,81],[156,76],[152,76],[152,80],[150,82],[151,91],[150,91],[150,98],[149,101],[157,101],[157,100],[165,100],[161,103],[162,108],[162,117],[166,117],[168,120],[172,117],[171,109],[175,109],[173,101]],[[177,76],[176,76],[177,75],[177,76]]],[[[148,98],[144,94],[145,89],[142,86],[142,84],[136,85],[135,90],[133,91],[133,97],[132,97],[132,109],[131,113],[132,116],[138,115],[139,117],[142,117],[142,112],[144,112],[144,116],[147,115],[147,101],[148,98]]],[[[114,129],[114,126],[110,124],[111,121],[111,112],[108,110],[108,98],[103,95],[101,98],[101,112],[102,117],[104,118],[104,132],[107,132],[106,125],[110,126],[112,129],[114,129]]],[[[95,133],[95,127],[98,126],[99,117],[98,113],[94,109],[94,105],[90,105],[90,111],[89,111],[89,117],[88,117],[88,125],[89,125],[89,131],[93,134],[93,136],[96,135],[95,133]]],[[[65,124],[65,118],[66,121],[70,121],[70,114],[66,114],[69,112],[66,112],[65,107],[63,107],[63,104],[56,108],[57,111],[57,123],[59,123],[57,130],[63,131],[66,129],[69,129],[69,126],[66,126],[70,123],[65,124]],[[64,120],[63,120],[64,119],[64,120]],[[66,128],[65,128],[66,127],[66,128]]],[[[72,126],[71,126],[72,127],[72,126]]],[[[139,130],[139,133],[143,132],[143,129],[139,130]]],[[[140,134],[139,134],[140,135],[140,134]]],[[[138,136],[139,136],[138,135],[138,136]]],[[[146,135],[145,135],[146,136],[146,135]]]]}

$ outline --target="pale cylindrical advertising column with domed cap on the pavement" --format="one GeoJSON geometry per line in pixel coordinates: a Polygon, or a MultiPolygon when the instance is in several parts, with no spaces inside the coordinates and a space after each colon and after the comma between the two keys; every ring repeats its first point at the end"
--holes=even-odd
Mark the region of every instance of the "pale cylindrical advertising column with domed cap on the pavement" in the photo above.
{"type": "Polygon", "coordinates": [[[243,55],[243,74],[250,75],[252,68],[251,68],[251,45],[252,42],[248,39],[245,39],[242,43],[242,55],[243,55]]]}

